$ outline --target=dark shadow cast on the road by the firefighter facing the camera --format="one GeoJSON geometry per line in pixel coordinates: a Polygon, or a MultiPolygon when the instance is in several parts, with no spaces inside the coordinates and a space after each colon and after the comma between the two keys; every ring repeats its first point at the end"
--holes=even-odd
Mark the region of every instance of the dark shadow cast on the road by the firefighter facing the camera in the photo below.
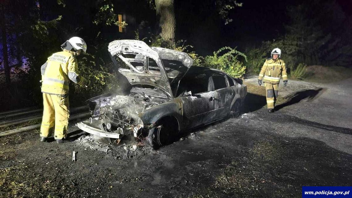
{"type": "Polygon", "coordinates": [[[304,91],[298,91],[294,94],[291,94],[286,97],[289,101],[279,104],[275,107],[276,110],[282,109],[284,107],[290,106],[292,104],[296,104],[304,99],[307,101],[313,101],[315,98],[319,97],[326,89],[319,88],[319,89],[309,89],[304,91]]]}

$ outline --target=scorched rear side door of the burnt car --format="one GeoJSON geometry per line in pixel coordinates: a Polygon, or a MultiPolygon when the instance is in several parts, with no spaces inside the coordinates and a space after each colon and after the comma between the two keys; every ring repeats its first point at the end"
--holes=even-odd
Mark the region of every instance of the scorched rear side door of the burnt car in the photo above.
{"type": "Polygon", "coordinates": [[[231,102],[234,98],[234,92],[228,86],[226,77],[220,73],[212,75],[214,90],[215,90],[215,107],[214,107],[214,120],[219,120],[225,117],[231,108],[231,102]]]}

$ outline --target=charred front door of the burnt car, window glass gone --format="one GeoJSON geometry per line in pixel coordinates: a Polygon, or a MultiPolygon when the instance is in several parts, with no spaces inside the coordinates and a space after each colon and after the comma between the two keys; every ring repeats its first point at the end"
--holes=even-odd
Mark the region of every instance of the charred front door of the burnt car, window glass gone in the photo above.
{"type": "Polygon", "coordinates": [[[180,89],[184,90],[183,128],[194,128],[212,121],[214,114],[214,96],[210,76],[199,74],[190,79],[182,79],[180,89]]]}

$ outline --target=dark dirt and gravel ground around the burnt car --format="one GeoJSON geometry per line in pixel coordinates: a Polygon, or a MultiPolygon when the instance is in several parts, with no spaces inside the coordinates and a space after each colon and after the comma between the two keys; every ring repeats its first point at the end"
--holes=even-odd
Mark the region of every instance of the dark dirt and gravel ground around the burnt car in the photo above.
{"type": "Polygon", "coordinates": [[[239,118],[158,150],[104,146],[76,127],[63,144],[37,131],[0,138],[0,197],[301,197],[302,186],[351,186],[352,78],[280,84],[275,113],[256,81],[244,81],[239,118]]]}

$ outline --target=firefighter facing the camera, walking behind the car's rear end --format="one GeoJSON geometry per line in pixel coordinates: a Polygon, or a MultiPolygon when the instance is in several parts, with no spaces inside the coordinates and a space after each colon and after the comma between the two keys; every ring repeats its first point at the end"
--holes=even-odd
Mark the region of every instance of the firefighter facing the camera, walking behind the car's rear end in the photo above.
{"type": "Polygon", "coordinates": [[[275,48],[271,51],[271,57],[265,60],[259,73],[258,84],[264,82],[266,89],[266,104],[269,112],[274,112],[275,102],[278,94],[278,86],[282,77],[284,87],[287,86],[287,73],[284,61],[281,59],[281,50],[275,48]]]}

